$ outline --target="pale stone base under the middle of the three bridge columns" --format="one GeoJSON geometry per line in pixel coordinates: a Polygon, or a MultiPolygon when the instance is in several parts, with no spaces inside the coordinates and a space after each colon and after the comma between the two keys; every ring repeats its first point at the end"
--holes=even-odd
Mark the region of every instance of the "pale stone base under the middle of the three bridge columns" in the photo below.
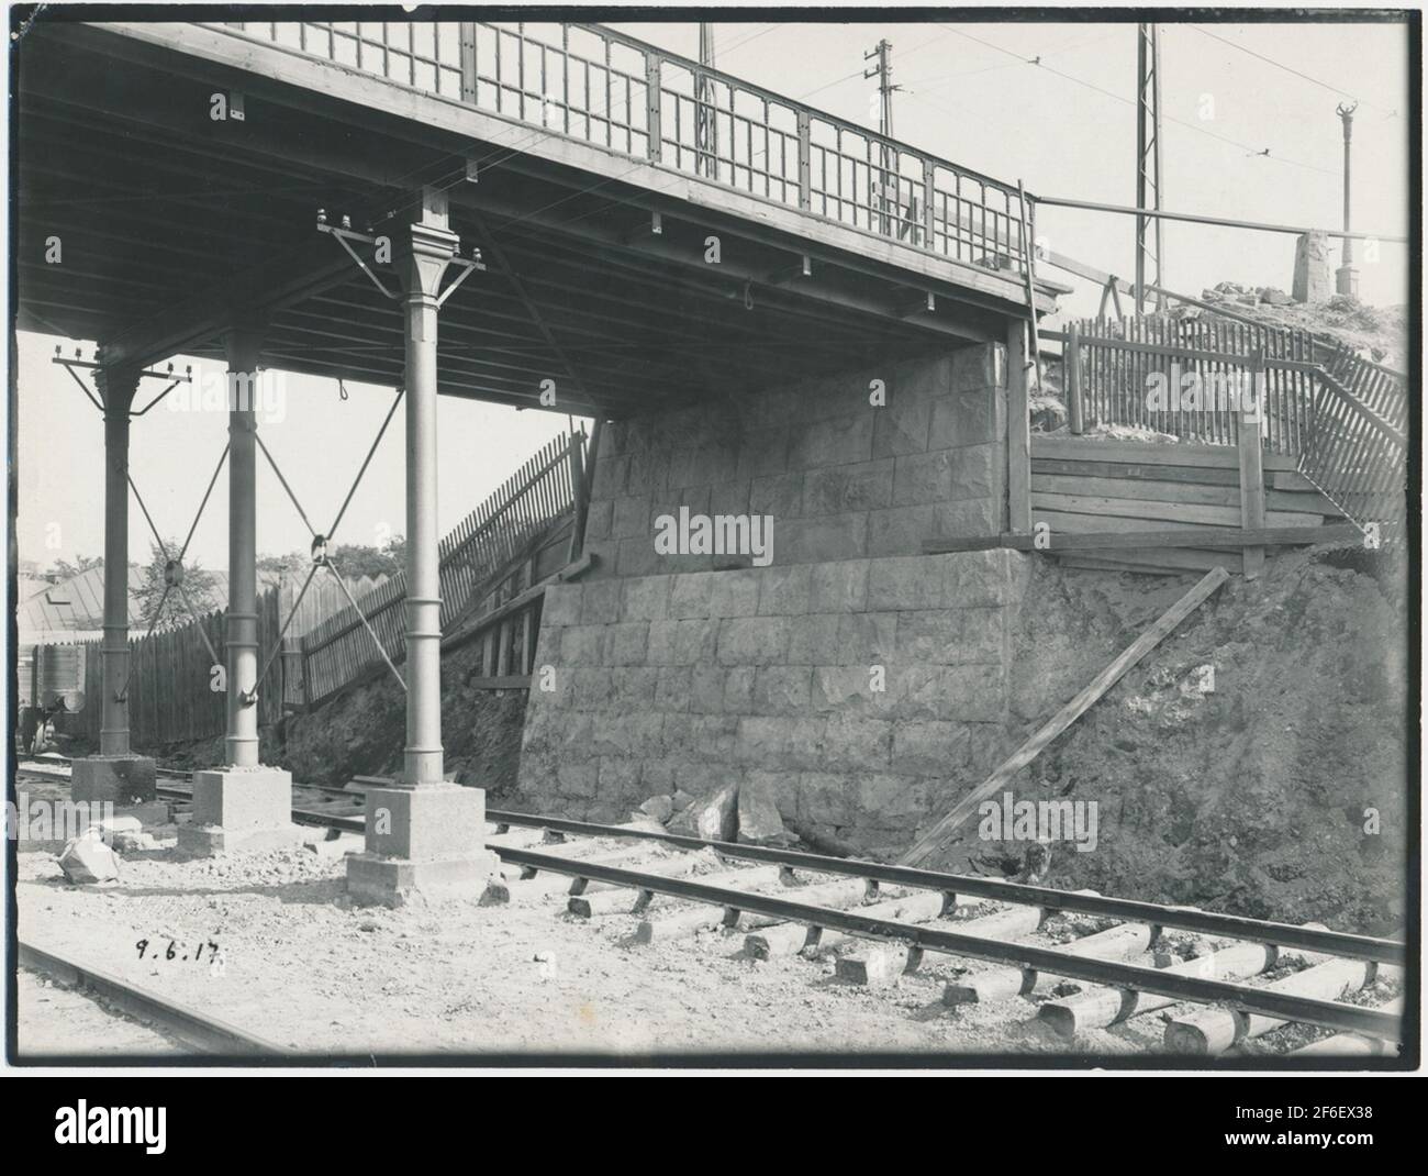
{"type": "Polygon", "coordinates": [[[293,776],[278,767],[223,767],[193,773],[193,819],[178,827],[184,853],[256,853],[296,846],[293,776]]]}

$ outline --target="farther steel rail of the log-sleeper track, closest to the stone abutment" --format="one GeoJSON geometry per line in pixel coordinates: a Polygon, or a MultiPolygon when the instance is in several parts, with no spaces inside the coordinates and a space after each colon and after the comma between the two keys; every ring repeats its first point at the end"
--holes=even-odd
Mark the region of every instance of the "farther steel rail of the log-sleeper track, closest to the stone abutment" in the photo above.
{"type": "MultiPolygon", "coordinates": [[[[952,874],[941,870],[924,870],[915,866],[897,866],[883,862],[864,862],[857,857],[830,857],[821,853],[804,853],[774,846],[754,846],[741,842],[711,842],[703,837],[688,837],[681,833],[661,833],[653,829],[624,827],[618,824],[593,824],[567,817],[541,817],[533,813],[487,810],[487,820],[497,824],[514,824],[534,829],[551,829],[560,833],[574,833],[587,837],[628,837],[637,840],[658,840],[685,849],[708,846],[721,857],[737,857],[750,862],[771,862],[778,866],[810,873],[845,874],[888,886],[910,886],[922,890],[985,899],[988,902],[1044,906],[1051,910],[1070,910],[1080,915],[1098,915],[1122,922],[1150,923],[1198,935],[1244,939],[1254,943],[1275,943],[1301,952],[1321,952],[1345,959],[1377,960],[1402,966],[1408,959],[1407,946],[1395,939],[1378,939],[1352,932],[1335,932],[1324,927],[1305,927],[1297,923],[1274,923],[1265,919],[1251,919],[1244,915],[1224,915],[1188,906],[1160,906],[1140,899],[1118,899],[1105,895],[1088,895],[1071,890],[1057,890],[1050,886],[1030,886],[1024,882],[952,874]]],[[[360,832],[360,829],[357,830],[360,832]]],[[[503,857],[510,853],[513,864],[527,856],[524,852],[498,849],[503,857]]],[[[544,854],[536,854],[544,857],[544,854]]],[[[561,870],[557,870],[557,873],[561,870]]],[[[570,873],[564,870],[564,873],[570,873]]]]}

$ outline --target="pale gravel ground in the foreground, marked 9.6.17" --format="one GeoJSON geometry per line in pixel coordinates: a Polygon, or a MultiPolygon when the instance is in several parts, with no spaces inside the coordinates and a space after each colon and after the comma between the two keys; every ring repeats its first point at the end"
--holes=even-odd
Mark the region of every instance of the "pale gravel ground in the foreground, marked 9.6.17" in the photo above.
{"type": "MultiPolygon", "coordinates": [[[[51,854],[23,852],[20,935],[316,1055],[1067,1049],[1025,1002],[942,1006],[951,962],[870,992],[835,979],[831,956],[758,962],[743,933],[717,932],[637,946],[633,916],[585,923],[555,897],[353,907],[337,854],[354,843],[214,860],[130,854],[123,877],[97,887],[70,886],[51,854]],[[150,945],[143,960],[139,940],[150,945]],[[193,957],[208,943],[221,967],[213,949],[193,957]]],[[[1158,1030],[1102,1035],[1081,1050],[1140,1052],[1158,1030]]],[[[34,1049],[73,1046],[69,1020],[54,1023],[43,1005],[21,1003],[21,1032],[34,1049]]]]}

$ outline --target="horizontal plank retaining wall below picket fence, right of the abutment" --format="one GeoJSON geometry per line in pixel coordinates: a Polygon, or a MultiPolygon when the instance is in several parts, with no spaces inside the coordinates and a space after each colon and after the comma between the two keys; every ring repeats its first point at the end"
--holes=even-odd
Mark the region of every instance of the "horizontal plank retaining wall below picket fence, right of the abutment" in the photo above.
{"type": "MultiPolygon", "coordinates": [[[[1264,454],[1267,527],[1319,527],[1344,514],[1295,470],[1295,460],[1264,454]]],[[[1092,437],[1031,437],[1031,517],[1052,533],[1238,530],[1240,454],[1232,446],[1155,444],[1092,437]]],[[[1052,550],[1054,550],[1052,543],[1052,550]]],[[[1238,552],[1147,547],[1067,552],[1068,567],[1188,576],[1222,566],[1244,572],[1238,552]]]]}

